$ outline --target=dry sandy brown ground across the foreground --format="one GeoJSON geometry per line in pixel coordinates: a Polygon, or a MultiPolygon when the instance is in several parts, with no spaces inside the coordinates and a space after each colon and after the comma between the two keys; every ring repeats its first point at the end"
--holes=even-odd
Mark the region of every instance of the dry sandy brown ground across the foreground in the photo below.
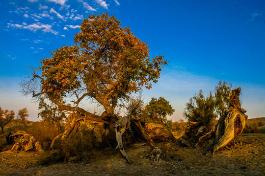
{"type": "MultiPolygon", "coordinates": [[[[40,153],[0,153],[0,175],[10,176],[265,176],[265,134],[247,133],[213,156],[206,151],[182,148],[174,143],[157,144],[162,149],[160,163],[146,156],[151,147],[144,143],[130,146],[132,164],[115,149],[93,151],[87,162],[39,165],[40,153]]],[[[125,148],[126,149],[126,148],[125,148]]]]}

